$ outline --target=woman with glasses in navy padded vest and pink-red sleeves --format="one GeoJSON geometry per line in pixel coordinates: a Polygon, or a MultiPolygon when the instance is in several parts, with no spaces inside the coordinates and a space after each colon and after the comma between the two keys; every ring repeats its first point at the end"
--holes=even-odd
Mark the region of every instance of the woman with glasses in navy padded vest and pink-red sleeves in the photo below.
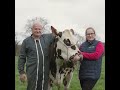
{"type": "Polygon", "coordinates": [[[80,46],[83,60],[81,61],[79,79],[82,90],[92,90],[101,73],[104,45],[95,39],[96,33],[92,27],[86,29],[86,41],[80,46]]]}

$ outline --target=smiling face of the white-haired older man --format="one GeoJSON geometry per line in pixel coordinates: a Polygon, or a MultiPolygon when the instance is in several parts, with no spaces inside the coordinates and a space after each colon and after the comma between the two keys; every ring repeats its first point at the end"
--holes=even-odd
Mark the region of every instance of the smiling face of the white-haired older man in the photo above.
{"type": "Polygon", "coordinates": [[[42,26],[39,23],[35,23],[32,28],[32,34],[35,37],[39,37],[41,35],[42,26]]]}

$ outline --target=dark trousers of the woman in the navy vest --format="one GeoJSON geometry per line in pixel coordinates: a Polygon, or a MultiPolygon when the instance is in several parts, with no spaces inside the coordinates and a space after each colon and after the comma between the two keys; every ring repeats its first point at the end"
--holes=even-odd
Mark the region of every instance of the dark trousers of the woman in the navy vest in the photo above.
{"type": "Polygon", "coordinates": [[[80,85],[82,90],[92,90],[92,88],[95,86],[98,79],[82,79],[80,80],[80,85]]]}

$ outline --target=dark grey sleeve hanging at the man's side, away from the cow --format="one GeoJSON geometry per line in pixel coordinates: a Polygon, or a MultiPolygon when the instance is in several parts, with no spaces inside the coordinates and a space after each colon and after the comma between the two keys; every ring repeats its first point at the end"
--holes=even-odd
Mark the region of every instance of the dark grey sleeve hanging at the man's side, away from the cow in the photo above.
{"type": "Polygon", "coordinates": [[[18,58],[18,71],[19,71],[19,74],[25,73],[24,72],[25,63],[26,63],[26,44],[25,44],[25,40],[24,40],[22,45],[21,45],[20,55],[19,55],[19,58],[18,58]]]}

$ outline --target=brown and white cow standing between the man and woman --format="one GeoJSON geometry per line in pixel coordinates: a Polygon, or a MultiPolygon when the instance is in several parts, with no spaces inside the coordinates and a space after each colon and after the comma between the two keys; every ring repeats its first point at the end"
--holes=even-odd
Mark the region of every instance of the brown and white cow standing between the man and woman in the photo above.
{"type": "MultiPolygon", "coordinates": [[[[73,58],[79,54],[79,48],[76,45],[77,39],[72,29],[66,29],[59,33],[53,26],[51,26],[51,29],[56,38],[50,48],[51,61],[48,90],[52,90],[53,85],[56,85],[60,90],[62,83],[64,90],[68,90],[76,63],[73,58]]],[[[79,56],[82,59],[80,54],[79,56]]]]}

